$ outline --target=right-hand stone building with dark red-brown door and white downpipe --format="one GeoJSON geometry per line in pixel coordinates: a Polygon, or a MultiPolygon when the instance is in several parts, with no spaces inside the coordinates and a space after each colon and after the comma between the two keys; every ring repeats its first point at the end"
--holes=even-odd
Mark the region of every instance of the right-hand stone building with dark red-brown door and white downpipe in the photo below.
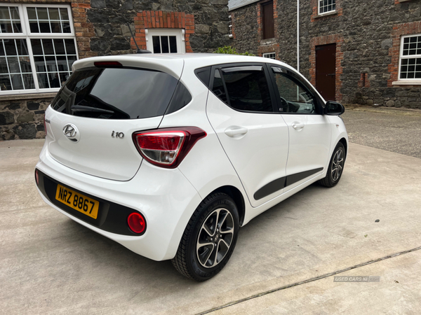
{"type": "MultiPolygon", "coordinates": [[[[297,1],[229,0],[239,52],[297,67],[297,1]]],[[[421,0],[300,0],[300,71],[326,99],[421,109],[421,0]]]]}

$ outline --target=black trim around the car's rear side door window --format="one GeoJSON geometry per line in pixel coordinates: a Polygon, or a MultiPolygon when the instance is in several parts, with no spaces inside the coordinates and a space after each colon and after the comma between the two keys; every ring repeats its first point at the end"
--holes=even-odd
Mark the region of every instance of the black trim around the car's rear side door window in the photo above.
{"type": "MultiPolygon", "coordinates": [[[[254,113],[254,114],[279,114],[279,111],[277,111],[277,101],[276,101],[276,96],[275,96],[275,92],[274,92],[274,87],[273,84],[271,84],[270,82],[272,81],[271,76],[269,75],[267,66],[265,62],[236,62],[236,63],[229,63],[229,64],[216,64],[212,66],[212,69],[210,70],[210,82],[209,82],[209,90],[210,92],[212,92],[213,95],[215,95],[215,97],[218,97],[218,95],[216,95],[213,92],[213,78],[215,76],[215,70],[218,69],[218,71],[220,71],[221,69],[225,69],[225,68],[234,68],[237,66],[262,66],[262,69],[265,73],[265,77],[267,80],[267,86],[269,88],[269,94],[270,94],[270,99],[272,102],[272,111],[242,111],[240,109],[234,109],[230,104],[226,104],[230,109],[234,110],[234,111],[239,111],[241,113],[254,113]]],[[[227,102],[229,103],[229,95],[227,92],[227,87],[225,85],[225,80],[224,77],[221,76],[222,78],[222,84],[224,85],[224,89],[225,89],[225,94],[227,95],[227,102]]],[[[218,99],[220,99],[218,97],[218,99]]],[[[222,101],[221,101],[222,102],[222,101]]]]}

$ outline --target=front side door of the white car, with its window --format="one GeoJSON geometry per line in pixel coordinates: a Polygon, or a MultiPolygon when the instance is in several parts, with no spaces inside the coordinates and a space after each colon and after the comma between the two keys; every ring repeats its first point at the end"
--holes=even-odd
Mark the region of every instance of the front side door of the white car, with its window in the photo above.
{"type": "Polygon", "coordinates": [[[331,125],[318,113],[314,91],[293,71],[272,66],[279,111],[288,126],[285,192],[319,176],[329,160],[331,125]]]}

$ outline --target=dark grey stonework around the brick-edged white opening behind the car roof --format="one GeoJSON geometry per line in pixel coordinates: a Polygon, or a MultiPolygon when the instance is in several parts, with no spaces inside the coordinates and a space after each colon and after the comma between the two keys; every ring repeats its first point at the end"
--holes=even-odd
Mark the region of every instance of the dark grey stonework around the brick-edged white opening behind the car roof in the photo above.
{"type": "MultiPolygon", "coordinates": [[[[228,41],[227,0],[91,0],[87,10],[88,22],[93,23],[91,50],[98,55],[116,55],[133,52],[130,25],[136,32],[135,18],[142,11],[185,13],[194,17],[194,33],[186,40],[193,52],[213,52],[228,41]]],[[[158,28],[157,26],[144,28],[158,28]]],[[[159,28],[178,28],[160,25],[159,28]]],[[[142,42],[138,42],[142,46],[142,42]]],[[[146,49],[146,47],[141,47],[146,49]]],[[[188,49],[186,52],[189,52],[188,49]]]]}

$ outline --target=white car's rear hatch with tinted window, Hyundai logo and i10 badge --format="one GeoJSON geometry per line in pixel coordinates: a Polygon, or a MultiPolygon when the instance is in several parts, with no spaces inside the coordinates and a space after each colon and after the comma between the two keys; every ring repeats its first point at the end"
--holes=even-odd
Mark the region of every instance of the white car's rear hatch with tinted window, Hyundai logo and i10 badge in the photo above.
{"type": "Polygon", "coordinates": [[[177,83],[152,69],[76,70],[46,112],[49,153],[79,172],[128,181],[142,162],[132,134],[159,127],[177,83]]]}

